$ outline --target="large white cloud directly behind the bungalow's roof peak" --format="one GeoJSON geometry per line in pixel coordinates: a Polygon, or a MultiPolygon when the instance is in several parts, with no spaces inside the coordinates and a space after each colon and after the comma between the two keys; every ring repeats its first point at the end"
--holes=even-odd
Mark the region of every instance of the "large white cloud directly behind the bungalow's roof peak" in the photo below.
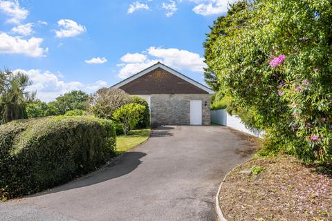
{"type": "Polygon", "coordinates": [[[200,57],[199,54],[187,50],[179,50],[177,48],[150,47],[143,53],[147,55],[142,53],[128,53],[127,55],[124,55],[121,58],[122,63],[117,64],[117,66],[121,68],[118,73],[118,77],[122,79],[130,77],[131,75],[140,72],[140,70],[156,64],[158,61],[178,70],[186,69],[193,72],[202,73],[203,68],[205,67],[203,57],[200,57]],[[127,59],[128,57],[131,59],[127,59]]]}

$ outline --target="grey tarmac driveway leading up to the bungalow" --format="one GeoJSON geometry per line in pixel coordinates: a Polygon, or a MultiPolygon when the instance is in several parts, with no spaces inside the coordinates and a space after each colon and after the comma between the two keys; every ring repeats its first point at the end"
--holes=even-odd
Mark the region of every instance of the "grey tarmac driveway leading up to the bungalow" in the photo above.
{"type": "Polygon", "coordinates": [[[1,220],[216,220],[223,176],[254,144],[220,126],[165,126],[80,180],[0,204],[1,220]]]}

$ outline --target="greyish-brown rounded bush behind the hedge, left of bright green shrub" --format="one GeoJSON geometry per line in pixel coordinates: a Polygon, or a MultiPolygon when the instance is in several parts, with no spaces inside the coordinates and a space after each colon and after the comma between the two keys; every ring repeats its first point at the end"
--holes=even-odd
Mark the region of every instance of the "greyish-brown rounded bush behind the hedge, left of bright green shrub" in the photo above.
{"type": "Polygon", "coordinates": [[[132,101],[130,95],[118,88],[101,88],[90,98],[91,112],[100,118],[112,119],[117,108],[132,101]]]}

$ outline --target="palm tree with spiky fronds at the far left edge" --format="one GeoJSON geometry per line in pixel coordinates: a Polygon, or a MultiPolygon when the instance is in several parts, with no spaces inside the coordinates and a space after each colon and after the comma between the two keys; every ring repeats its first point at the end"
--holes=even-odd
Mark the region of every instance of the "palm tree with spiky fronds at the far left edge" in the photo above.
{"type": "Polygon", "coordinates": [[[26,104],[35,97],[34,92],[26,91],[32,84],[28,75],[10,70],[0,72],[0,111],[2,122],[26,118],[26,104]]]}

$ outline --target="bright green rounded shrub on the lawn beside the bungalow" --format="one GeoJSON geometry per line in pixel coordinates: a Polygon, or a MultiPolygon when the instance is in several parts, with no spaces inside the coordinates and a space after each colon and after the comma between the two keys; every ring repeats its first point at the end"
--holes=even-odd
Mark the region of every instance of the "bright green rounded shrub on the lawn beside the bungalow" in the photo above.
{"type": "Polygon", "coordinates": [[[142,120],[144,113],[145,106],[142,104],[124,104],[113,113],[113,119],[122,125],[124,135],[127,135],[142,120]]]}

